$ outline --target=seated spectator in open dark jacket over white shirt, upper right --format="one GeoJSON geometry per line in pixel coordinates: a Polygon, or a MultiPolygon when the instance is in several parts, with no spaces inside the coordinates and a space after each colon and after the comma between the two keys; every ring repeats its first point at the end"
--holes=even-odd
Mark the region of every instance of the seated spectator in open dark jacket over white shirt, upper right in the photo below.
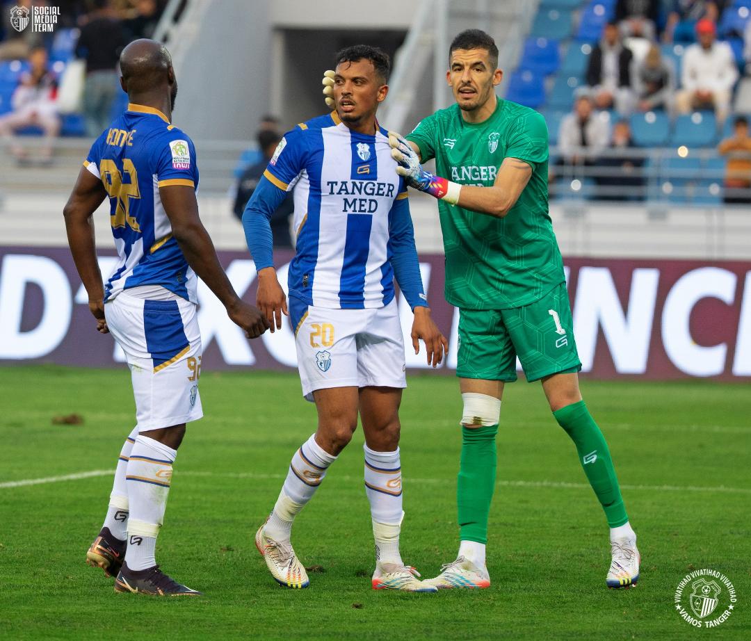
{"type": "Polygon", "coordinates": [[[632,110],[632,59],[632,51],[621,42],[617,24],[605,25],[602,40],[592,50],[587,67],[587,85],[598,109],[615,108],[620,113],[632,110]]]}

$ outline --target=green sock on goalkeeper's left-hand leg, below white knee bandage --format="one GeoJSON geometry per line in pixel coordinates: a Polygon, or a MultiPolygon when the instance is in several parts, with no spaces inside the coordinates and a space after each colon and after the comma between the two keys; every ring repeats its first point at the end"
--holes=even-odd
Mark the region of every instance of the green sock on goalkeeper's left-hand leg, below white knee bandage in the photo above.
{"type": "Polygon", "coordinates": [[[457,483],[459,531],[463,541],[487,543],[487,515],[496,486],[498,426],[462,426],[462,458],[457,483]]]}

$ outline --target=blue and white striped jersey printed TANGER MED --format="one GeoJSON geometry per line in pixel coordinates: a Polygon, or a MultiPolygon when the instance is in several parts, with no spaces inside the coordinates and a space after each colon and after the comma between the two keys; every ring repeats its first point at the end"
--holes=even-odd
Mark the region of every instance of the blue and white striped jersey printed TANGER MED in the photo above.
{"type": "MultiPolygon", "coordinates": [[[[358,134],[336,112],[285,134],[264,176],[280,189],[294,188],[297,254],[289,268],[290,296],[325,308],[391,302],[394,218],[406,217],[414,253],[406,185],[396,166],[388,131],[358,134]]],[[[418,287],[416,295],[424,298],[419,272],[418,287]]]]}

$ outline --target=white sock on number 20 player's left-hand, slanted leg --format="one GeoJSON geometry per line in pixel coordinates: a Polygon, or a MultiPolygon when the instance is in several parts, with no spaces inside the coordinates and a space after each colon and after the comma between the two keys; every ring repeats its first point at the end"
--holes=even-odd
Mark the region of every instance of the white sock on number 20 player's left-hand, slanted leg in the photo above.
{"type": "Polygon", "coordinates": [[[303,443],[292,456],[282,491],[264,525],[264,534],[281,543],[287,543],[292,522],[300,510],[315,494],[326,477],[326,471],[336,456],[329,454],[315,442],[315,434],[303,443]]]}

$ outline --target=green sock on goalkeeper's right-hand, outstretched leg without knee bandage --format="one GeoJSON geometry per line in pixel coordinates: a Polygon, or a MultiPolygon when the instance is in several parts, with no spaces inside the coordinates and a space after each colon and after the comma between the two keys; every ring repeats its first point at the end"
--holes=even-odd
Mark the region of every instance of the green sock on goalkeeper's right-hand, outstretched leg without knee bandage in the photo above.
{"type": "Polygon", "coordinates": [[[553,416],[576,444],[584,474],[605,510],[608,525],[617,528],[628,522],[608,444],[587,405],[584,401],[566,405],[554,411],[553,416]]]}

